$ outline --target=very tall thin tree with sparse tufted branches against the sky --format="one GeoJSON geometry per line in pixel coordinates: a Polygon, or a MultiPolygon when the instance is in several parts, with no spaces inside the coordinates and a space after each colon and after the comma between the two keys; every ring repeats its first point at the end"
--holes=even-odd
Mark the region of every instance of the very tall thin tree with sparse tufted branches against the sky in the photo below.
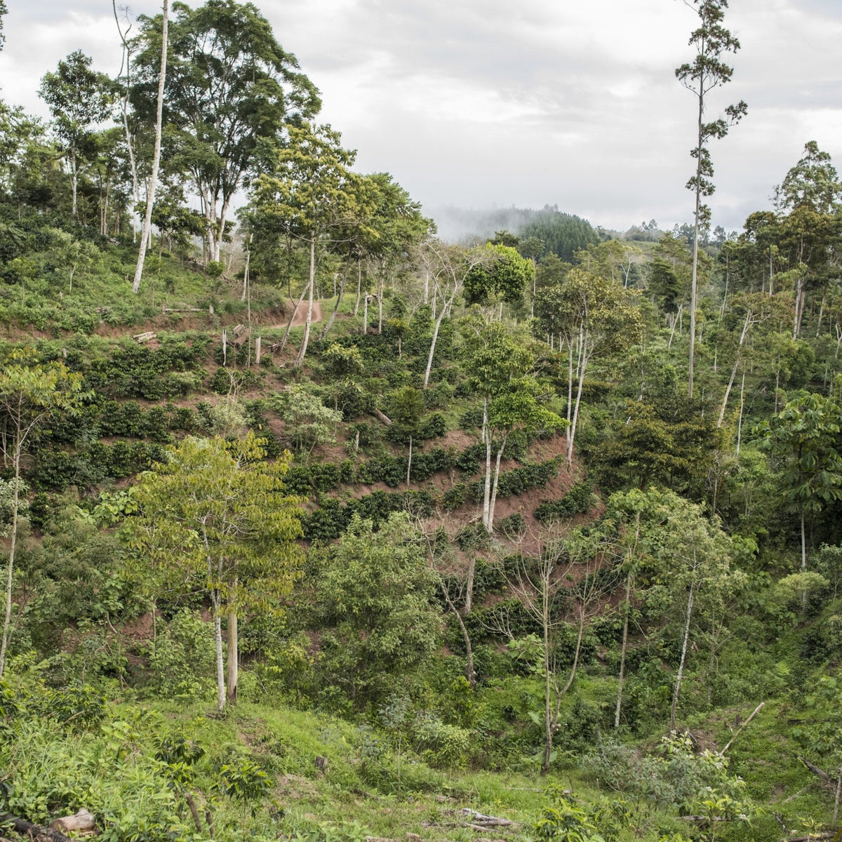
{"type": "Polygon", "coordinates": [[[695,47],[696,56],[690,64],[676,67],[675,76],[679,82],[694,94],[698,111],[696,117],[696,145],[690,150],[695,158],[695,174],[687,182],[687,189],[695,194],[693,211],[693,274],[690,287],[690,375],[688,388],[693,397],[693,368],[695,365],[695,310],[697,298],[696,271],[699,259],[699,237],[706,232],[711,222],[711,209],[702,203],[703,196],[713,195],[716,189],[713,181],[713,163],[707,143],[713,138],[727,135],[728,128],[743,118],[748,106],[740,100],[728,105],[725,117],[705,122],[706,99],[714,88],[731,81],[733,67],[722,61],[722,56],[739,50],[739,41],[722,26],[727,0],[685,0],[699,16],[699,27],[690,35],[690,46],[695,47]]]}

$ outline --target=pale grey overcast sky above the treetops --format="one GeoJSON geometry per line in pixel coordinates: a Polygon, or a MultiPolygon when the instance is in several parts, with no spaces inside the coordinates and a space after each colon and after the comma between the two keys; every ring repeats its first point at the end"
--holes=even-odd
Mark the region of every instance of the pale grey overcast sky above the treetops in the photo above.
{"type": "MultiPolygon", "coordinates": [[[[118,0],[125,3],[126,0],[118,0]]],[[[194,5],[196,0],[190,0],[194,5]]],[[[75,49],[115,73],[110,0],[9,0],[0,87],[45,114],[40,76],[75,49]]],[[[257,0],[322,91],[321,120],[428,210],[558,205],[624,230],[690,221],[695,98],[682,0],[257,0]]],[[[129,13],[155,13],[131,0],[129,13]]],[[[739,228],[818,141],[842,169],[842,2],[731,0],[741,41],[709,114],[749,115],[713,141],[715,224],[739,228]]]]}

